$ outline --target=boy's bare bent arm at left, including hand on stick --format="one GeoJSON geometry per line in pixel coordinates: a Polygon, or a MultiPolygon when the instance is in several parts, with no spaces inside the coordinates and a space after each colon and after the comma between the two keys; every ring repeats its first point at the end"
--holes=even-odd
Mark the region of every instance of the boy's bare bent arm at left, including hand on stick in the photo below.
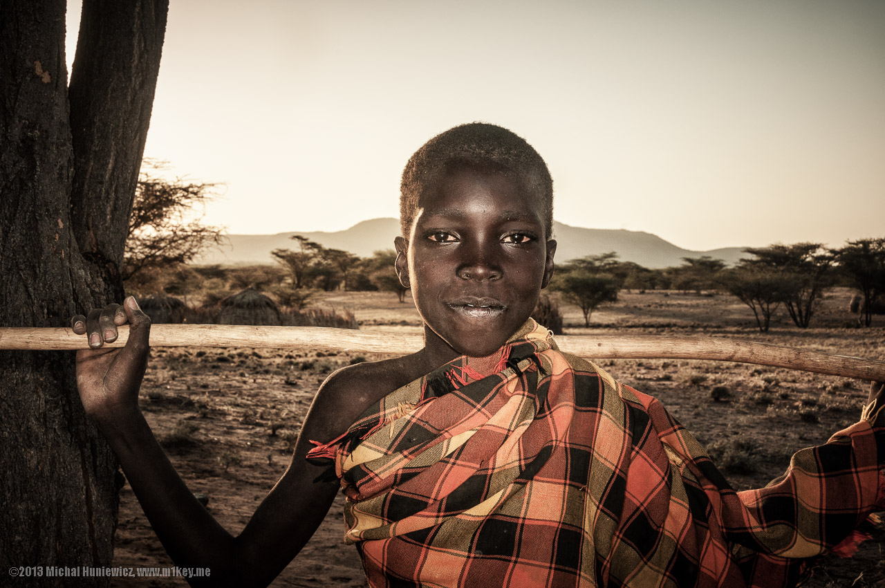
{"type": "Polygon", "coordinates": [[[109,306],[90,313],[89,319],[74,317],[73,322],[75,332],[112,341],[116,326],[126,321],[132,327],[122,349],[93,345],[93,350],[78,352],[77,381],[84,408],[107,438],[175,564],[211,569],[208,578],[192,578],[191,584],[269,584],[311,538],[338,489],[338,484],[313,483],[322,468],[305,459],[311,448],[308,439],[334,438],[358,415],[358,407],[350,408],[356,403],[342,402],[346,386],[334,377],[324,383],[304,420],[289,468],[234,538],[196,501],[138,408],[150,319],[134,299],[127,298],[122,307],[109,306]]]}

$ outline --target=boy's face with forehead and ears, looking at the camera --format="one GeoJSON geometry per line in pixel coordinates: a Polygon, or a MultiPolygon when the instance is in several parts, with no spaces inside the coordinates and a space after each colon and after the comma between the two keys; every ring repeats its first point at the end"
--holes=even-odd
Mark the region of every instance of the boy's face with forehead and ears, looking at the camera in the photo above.
{"type": "Polygon", "coordinates": [[[505,174],[462,168],[419,200],[396,272],[425,323],[426,344],[496,352],[535,309],[553,275],[556,242],[543,206],[505,174]]]}

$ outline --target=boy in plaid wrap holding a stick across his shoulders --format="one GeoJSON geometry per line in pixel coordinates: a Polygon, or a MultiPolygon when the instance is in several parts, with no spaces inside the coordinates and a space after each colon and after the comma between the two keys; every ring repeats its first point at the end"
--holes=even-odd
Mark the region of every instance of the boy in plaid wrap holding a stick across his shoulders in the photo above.
{"type": "Polygon", "coordinates": [[[529,319],[553,273],[551,209],[547,166],[506,129],[453,128],[412,156],[396,272],[425,346],[329,376],[236,538],[138,410],[150,321],[135,300],[74,317],[94,348],[78,353],[83,405],[173,561],[265,585],[343,487],[345,540],[372,586],[781,586],[804,569],[785,557],[832,547],[885,506],[881,386],[863,421],[738,494],[657,401],[558,352],[529,319]],[[127,346],[101,349],[126,321],[127,346]]]}

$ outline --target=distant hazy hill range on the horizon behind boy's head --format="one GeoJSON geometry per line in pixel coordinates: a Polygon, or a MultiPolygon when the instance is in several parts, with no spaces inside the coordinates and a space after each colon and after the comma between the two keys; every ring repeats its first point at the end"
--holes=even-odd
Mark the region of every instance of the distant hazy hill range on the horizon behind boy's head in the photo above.
{"type": "MultiPolygon", "coordinates": [[[[292,249],[293,235],[303,235],[326,247],[350,251],[368,257],[373,251],[393,249],[394,237],[399,235],[397,219],[373,219],[358,222],[342,231],[293,231],[276,235],[229,235],[229,243],[208,251],[197,263],[244,264],[267,263],[273,260],[274,249],[292,249]]],[[[643,267],[680,266],[684,257],[709,255],[732,265],[744,256],[743,247],[726,247],[711,251],[690,251],[665,241],[659,236],[641,231],[611,228],[571,227],[553,223],[553,236],[558,241],[558,261],[576,259],[616,251],[620,259],[633,261],[643,267]]]]}

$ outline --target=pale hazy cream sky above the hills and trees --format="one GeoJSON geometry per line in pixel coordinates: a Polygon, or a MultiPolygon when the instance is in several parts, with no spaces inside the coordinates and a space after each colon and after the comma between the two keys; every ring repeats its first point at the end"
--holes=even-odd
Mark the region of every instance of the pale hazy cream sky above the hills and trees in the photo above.
{"type": "Polygon", "coordinates": [[[145,156],[223,182],[230,233],[342,230],[482,120],[541,153],[566,224],[838,246],[885,236],[882,31],[881,0],[171,0],[145,156]]]}

